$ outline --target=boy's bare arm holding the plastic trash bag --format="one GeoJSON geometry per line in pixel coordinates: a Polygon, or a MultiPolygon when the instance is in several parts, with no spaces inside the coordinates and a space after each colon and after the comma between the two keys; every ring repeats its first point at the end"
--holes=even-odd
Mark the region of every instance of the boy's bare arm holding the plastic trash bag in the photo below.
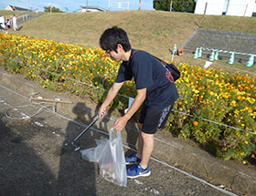
{"type": "Polygon", "coordinates": [[[145,97],[146,88],[138,89],[137,96],[134,99],[131,108],[129,108],[128,112],[125,115],[123,115],[122,118],[116,120],[113,129],[122,130],[125,127],[127,121],[131,119],[133,117],[133,114],[141,107],[145,97]]]}

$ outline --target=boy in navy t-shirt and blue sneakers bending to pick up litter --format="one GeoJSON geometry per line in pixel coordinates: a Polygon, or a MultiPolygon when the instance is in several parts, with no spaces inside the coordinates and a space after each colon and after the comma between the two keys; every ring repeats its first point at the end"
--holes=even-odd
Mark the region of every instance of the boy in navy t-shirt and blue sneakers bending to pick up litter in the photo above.
{"type": "Polygon", "coordinates": [[[123,63],[107,98],[101,105],[99,117],[106,115],[105,113],[101,116],[122,88],[123,82],[134,77],[137,96],[127,113],[116,120],[113,128],[122,130],[143,104],[138,122],[138,150],[125,158],[125,161],[127,165],[133,164],[133,167],[127,170],[127,177],[149,176],[151,171],[148,162],[154,150],[155,132],[158,128],[165,128],[166,120],[179,97],[176,84],[170,71],[155,57],[144,51],[134,53],[135,50],[132,49],[122,28],[113,26],[106,29],[101,35],[100,46],[113,60],[123,63]]]}

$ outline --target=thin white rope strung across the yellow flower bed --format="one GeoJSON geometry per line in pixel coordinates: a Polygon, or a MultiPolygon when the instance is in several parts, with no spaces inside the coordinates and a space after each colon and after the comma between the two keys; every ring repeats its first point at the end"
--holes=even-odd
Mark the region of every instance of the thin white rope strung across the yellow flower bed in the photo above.
{"type": "MultiPolygon", "coordinates": [[[[4,57],[4,56],[0,55],[0,57],[4,57]]],[[[7,57],[5,57],[5,58],[7,58],[7,57]]],[[[7,59],[12,60],[12,61],[16,61],[16,60],[11,59],[11,58],[7,58],[7,59]]],[[[203,60],[203,59],[201,59],[201,60],[203,60]]],[[[50,73],[50,74],[53,74],[53,75],[56,75],[56,76],[59,76],[59,77],[64,77],[64,76],[61,76],[61,75],[59,75],[59,74],[57,74],[57,73],[50,72],[50,71],[48,71],[48,70],[46,70],[46,69],[42,69],[42,68],[39,68],[39,67],[31,66],[31,65],[29,65],[29,64],[26,64],[26,63],[23,63],[23,62],[20,62],[20,61],[16,61],[16,62],[21,63],[21,64],[24,64],[24,65],[26,65],[26,66],[28,66],[28,67],[34,67],[34,68],[37,68],[37,69],[39,69],[39,70],[46,71],[46,72],[48,72],[48,73],[50,73]]],[[[256,75],[256,73],[255,73],[255,75],[256,75]]],[[[64,77],[64,78],[69,79],[69,80],[72,80],[72,81],[77,82],[77,83],[80,83],[80,84],[83,84],[83,85],[87,85],[87,86],[89,86],[89,87],[91,87],[91,88],[96,88],[96,89],[101,89],[101,90],[107,91],[107,90],[104,89],[104,88],[97,88],[97,87],[95,87],[95,86],[93,86],[93,85],[89,85],[89,84],[87,84],[87,83],[85,83],[85,82],[81,82],[81,81],[79,81],[79,80],[76,80],[76,79],[73,79],[73,78],[70,78],[70,77],[64,77]]],[[[123,97],[123,98],[131,98],[131,97],[128,97],[128,96],[124,96],[124,95],[122,95],[122,94],[117,94],[117,95],[118,95],[118,96],[121,96],[121,97],[123,97]]],[[[179,111],[177,111],[177,110],[174,110],[174,109],[173,109],[173,111],[178,112],[178,113],[181,113],[181,112],[179,112],[179,111]]],[[[187,113],[183,113],[183,114],[187,115],[188,117],[195,117],[194,115],[190,115],[190,114],[187,114],[187,113]]],[[[203,119],[203,118],[199,118],[199,117],[195,117],[195,118],[203,119]]],[[[222,123],[219,123],[219,122],[216,122],[216,121],[213,121],[213,120],[209,120],[209,119],[203,119],[203,120],[207,120],[207,121],[209,121],[209,122],[211,122],[211,123],[219,124],[219,125],[221,125],[221,126],[228,127],[228,128],[230,128],[230,129],[239,129],[239,128],[232,127],[232,126],[229,126],[229,125],[226,125],[226,124],[222,124],[222,123]]],[[[254,135],[256,134],[256,133],[254,133],[254,132],[251,132],[251,131],[248,130],[248,129],[239,129],[239,130],[245,131],[245,132],[249,132],[249,133],[254,134],[254,135]]]]}

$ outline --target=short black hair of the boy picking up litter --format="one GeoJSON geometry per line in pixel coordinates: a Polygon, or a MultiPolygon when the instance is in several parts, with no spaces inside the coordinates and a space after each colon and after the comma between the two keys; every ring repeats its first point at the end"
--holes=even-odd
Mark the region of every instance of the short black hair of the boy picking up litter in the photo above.
{"type": "Polygon", "coordinates": [[[121,44],[125,52],[132,49],[132,46],[129,42],[129,38],[126,32],[117,26],[108,28],[104,31],[100,38],[100,46],[105,51],[115,51],[117,52],[117,45],[121,44]]]}

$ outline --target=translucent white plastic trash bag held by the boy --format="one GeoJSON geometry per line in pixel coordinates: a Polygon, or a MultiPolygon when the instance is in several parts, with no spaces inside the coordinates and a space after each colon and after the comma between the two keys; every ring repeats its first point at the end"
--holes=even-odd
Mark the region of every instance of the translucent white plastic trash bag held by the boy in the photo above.
{"type": "Polygon", "coordinates": [[[84,160],[98,162],[101,176],[114,184],[126,187],[127,174],[123,153],[121,131],[110,131],[110,139],[95,139],[97,147],[80,150],[84,160]]]}

